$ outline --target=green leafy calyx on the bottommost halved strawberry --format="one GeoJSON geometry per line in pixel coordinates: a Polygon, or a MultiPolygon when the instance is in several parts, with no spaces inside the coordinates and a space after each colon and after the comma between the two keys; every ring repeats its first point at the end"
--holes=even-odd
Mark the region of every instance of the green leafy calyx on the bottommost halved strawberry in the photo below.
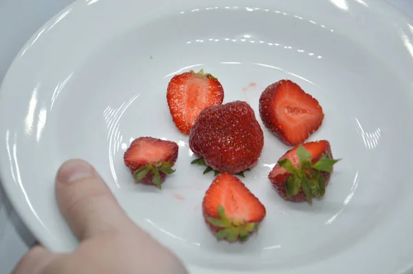
{"type": "Polygon", "coordinates": [[[226,217],[222,206],[218,206],[218,215],[220,216],[219,219],[207,218],[207,221],[220,228],[215,234],[219,241],[226,239],[228,242],[236,242],[239,239],[241,242],[245,242],[251,233],[257,231],[259,226],[258,222],[230,220],[226,217]]]}

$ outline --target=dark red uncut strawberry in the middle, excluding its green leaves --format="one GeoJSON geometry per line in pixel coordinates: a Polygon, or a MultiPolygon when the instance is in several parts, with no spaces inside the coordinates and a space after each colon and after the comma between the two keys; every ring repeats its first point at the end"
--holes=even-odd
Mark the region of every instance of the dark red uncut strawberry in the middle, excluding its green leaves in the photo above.
{"type": "Polygon", "coordinates": [[[209,169],[240,173],[260,158],[264,134],[250,105],[235,101],[204,109],[189,134],[189,147],[209,169]]]}

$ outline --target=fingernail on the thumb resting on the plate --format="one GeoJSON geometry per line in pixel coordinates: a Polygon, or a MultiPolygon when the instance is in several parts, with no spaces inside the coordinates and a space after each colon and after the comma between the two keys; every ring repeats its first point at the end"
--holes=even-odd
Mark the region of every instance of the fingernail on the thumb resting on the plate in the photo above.
{"type": "Polygon", "coordinates": [[[56,180],[63,183],[74,182],[93,176],[93,168],[83,160],[68,160],[57,172],[56,180]]]}

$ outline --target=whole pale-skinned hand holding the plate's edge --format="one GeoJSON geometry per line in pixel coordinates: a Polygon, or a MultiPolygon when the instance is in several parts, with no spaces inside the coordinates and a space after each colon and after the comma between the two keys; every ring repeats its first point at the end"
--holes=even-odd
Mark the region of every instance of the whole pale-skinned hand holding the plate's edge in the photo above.
{"type": "Polygon", "coordinates": [[[55,190],[80,246],[73,253],[35,246],[12,274],[187,274],[171,251],[127,217],[87,162],[65,162],[56,174],[55,190]]]}

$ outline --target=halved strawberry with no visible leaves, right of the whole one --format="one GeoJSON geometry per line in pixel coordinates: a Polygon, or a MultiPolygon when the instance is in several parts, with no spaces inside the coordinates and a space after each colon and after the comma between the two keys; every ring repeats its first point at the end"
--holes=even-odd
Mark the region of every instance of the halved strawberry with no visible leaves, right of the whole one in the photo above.
{"type": "Polygon", "coordinates": [[[260,116],[265,127],[287,145],[303,143],[324,120],[319,102],[290,80],[278,81],[262,92],[260,116]]]}

